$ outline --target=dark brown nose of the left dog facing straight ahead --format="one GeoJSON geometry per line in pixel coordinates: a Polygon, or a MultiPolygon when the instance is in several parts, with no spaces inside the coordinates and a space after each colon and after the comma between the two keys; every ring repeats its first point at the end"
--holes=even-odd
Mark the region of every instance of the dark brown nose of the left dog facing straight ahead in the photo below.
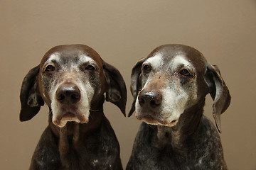
{"type": "Polygon", "coordinates": [[[80,90],[77,86],[65,84],[58,88],[56,91],[57,101],[63,104],[73,104],[80,101],[80,90]]]}

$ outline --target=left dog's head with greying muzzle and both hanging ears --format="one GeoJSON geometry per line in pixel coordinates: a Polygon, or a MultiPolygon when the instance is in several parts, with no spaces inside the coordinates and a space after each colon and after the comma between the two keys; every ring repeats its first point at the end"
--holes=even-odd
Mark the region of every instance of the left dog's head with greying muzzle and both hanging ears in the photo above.
{"type": "Polygon", "coordinates": [[[90,111],[102,109],[105,93],[125,115],[127,90],[119,71],[86,45],[56,46],[23,79],[20,120],[33,118],[45,102],[55,125],[87,123],[90,111]]]}

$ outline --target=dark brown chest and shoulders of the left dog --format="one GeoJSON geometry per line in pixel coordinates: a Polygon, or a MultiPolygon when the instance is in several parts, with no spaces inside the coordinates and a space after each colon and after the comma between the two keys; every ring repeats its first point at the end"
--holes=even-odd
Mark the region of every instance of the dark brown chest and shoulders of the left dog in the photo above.
{"type": "MultiPolygon", "coordinates": [[[[75,128],[75,124],[68,123],[68,128],[75,128]]],[[[70,134],[68,153],[63,157],[58,137],[48,126],[35,149],[30,169],[122,169],[119,143],[107,118],[103,118],[99,128],[81,138],[80,145],[74,145],[70,134]]]]}

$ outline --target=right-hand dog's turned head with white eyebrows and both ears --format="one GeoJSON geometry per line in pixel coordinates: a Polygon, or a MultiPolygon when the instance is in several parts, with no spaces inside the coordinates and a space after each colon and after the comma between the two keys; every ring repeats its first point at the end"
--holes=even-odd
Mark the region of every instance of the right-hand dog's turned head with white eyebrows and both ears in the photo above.
{"type": "Polygon", "coordinates": [[[132,69],[134,96],[129,116],[151,125],[174,126],[181,114],[210,93],[213,116],[220,131],[220,114],[230,104],[230,94],[219,69],[201,52],[186,45],[162,45],[132,69]]]}

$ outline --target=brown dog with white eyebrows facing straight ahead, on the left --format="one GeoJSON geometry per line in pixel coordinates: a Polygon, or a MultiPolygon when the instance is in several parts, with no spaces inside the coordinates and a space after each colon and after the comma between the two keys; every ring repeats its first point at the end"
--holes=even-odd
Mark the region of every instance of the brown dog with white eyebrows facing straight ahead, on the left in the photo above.
{"type": "Polygon", "coordinates": [[[50,108],[30,169],[122,169],[119,143],[103,113],[114,103],[125,115],[127,89],[119,71],[86,45],[53,47],[21,86],[20,120],[50,108]]]}

